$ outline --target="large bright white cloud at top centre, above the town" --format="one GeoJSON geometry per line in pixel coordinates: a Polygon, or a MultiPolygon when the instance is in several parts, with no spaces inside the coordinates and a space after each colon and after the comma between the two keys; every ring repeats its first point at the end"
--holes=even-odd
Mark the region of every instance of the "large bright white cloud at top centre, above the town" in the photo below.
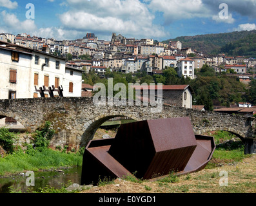
{"type": "Polygon", "coordinates": [[[95,33],[122,33],[127,37],[165,37],[162,26],[153,24],[155,16],[139,0],[68,0],[72,10],[59,15],[66,30],[95,33]]]}

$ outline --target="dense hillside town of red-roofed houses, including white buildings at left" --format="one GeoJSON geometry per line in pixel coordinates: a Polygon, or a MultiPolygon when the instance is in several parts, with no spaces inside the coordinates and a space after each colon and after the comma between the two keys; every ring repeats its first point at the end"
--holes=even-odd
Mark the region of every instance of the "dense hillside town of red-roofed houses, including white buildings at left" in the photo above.
{"type": "MultiPolygon", "coordinates": [[[[196,72],[208,65],[216,73],[235,75],[248,84],[255,79],[256,70],[253,58],[212,56],[183,48],[180,41],[165,44],[153,39],[128,39],[116,33],[112,33],[111,41],[99,40],[95,33],[86,33],[83,39],[74,41],[1,33],[0,54],[4,68],[1,79],[3,85],[8,85],[1,88],[1,99],[91,97],[93,86],[83,84],[83,73],[90,71],[101,77],[107,70],[161,75],[167,68],[175,68],[179,77],[196,79],[196,72]],[[10,72],[6,75],[6,71],[10,72]]],[[[192,91],[189,93],[190,102],[181,102],[186,108],[192,108],[192,91]]]]}

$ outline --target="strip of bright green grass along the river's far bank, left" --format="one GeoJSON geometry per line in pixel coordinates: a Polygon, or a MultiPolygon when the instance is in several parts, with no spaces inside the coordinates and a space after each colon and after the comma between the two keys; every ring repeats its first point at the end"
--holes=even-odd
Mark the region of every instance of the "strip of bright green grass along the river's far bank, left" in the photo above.
{"type": "Polygon", "coordinates": [[[58,167],[81,166],[83,156],[80,153],[62,153],[52,149],[35,150],[31,154],[17,151],[0,158],[0,176],[17,174],[23,171],[39,171],[58,167]]]}

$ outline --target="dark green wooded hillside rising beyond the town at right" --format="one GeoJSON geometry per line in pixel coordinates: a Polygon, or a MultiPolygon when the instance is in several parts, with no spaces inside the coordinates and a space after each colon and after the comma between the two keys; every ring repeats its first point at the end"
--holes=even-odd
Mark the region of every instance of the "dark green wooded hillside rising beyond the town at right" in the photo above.
{"type": "MultiPolygon", "coordinates": [[[[212,33],[206,35],[177,37],[175,39],[168,39],[163,42],[168,43],[169,41],[181,41],[182,48],[190,47],[199,52],[207,54],[217,54],[222,52],[222,48],[226,46],[226,44],[233,44],[237,41],[242,41],[242,39],[246,39],[246,37],[255,34],[256,30],[230,33],[212,33]]],[[[232,50],[233,49],[235,48],[232,48],[232,50]]],[[[247,52],[247,48],[243,49],[245,49],[245,52],[247,52]]]]}

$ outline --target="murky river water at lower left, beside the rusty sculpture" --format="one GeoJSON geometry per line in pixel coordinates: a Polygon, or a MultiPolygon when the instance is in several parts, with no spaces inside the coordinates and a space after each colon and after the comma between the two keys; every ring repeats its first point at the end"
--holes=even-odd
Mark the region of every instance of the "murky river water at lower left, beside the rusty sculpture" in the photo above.
{"type": "Polygon", "coordinates": [[[46,186],[60,189],[64,185],[72,183],[81,183],[82,167],[72,167],[69,169],[54,170],[50,172],[35,172],[35,186],[26,186],[26,176],[24,173],[10,176],[8,178],[0,177],[0,193],[10,193],[11,191],[32,192],[39,191],[46,186]],[[12,186],[12,190],[10,187],[12,186]]]}

